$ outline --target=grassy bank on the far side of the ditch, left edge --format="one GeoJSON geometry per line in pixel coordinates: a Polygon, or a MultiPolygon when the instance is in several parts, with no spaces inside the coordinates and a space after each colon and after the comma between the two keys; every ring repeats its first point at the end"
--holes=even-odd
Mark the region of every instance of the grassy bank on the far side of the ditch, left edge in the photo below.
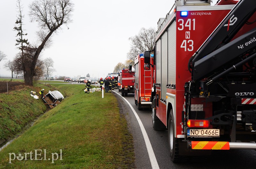
{"type": "Polygon", "coordinates": [[[30,96],[31,90],[38,94],[40,88],[20,85],[8,94],[0,93],[0,143],[15,136],[23,127],[46,111],[42,100],[30,96]]]}

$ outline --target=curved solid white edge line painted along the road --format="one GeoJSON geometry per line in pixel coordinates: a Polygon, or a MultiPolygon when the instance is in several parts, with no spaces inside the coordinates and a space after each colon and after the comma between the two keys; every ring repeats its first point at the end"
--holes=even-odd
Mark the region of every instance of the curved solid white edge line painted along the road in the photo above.
{"type": "MultiPolygon", "coordinates": [[[[115,92],[114,90],[112,90],[112,91],[115,92]]],[[[117,93],[117,92],[115,92],[115,93],[116,93],[117,95],[120,95],[120,94],[117,93]]],[[[120,96],[121,96],[121,95],[120,95],[120,96]]],[[[121,97],[123,97],[123,96],[121,96],[121,97]]],[[[155,153],[154,153],[154,151],[153,151],[153,148],[152,148],[152,146],[151,146],[151,144],[150,144],[150,141],[149,141],[149,138],[148,138],[148,134],[147,134],[147,132],[146,132],[146,130],[145,130],[145,128],[144,128],[144,126],[143,126],[141,120],[140,120],[140,117],[138,116],[138,114],[136,113],[136,111],[133,109],[132,105],[131,105],[124,97],[123,97],[123,99],[128,103],[128,105],[129,105],[130,108],[132,109],[132,112],[133,112],[133,114],[135,115],[135,117],[137,118],[137,121],[138,121],[138,123],[139,123],[139,125],[140,125],[140,130],[141,130],[141,132],[142,132],[143,138],[144,138],[145,143],[146,143],[146,147],[147,147],[147,150],[148,150],[148,156],[149,156],[149,160],[150,160],[150,163],[151,163],[152,168],[153,168],[153,169],[159,168],[158,163],[157,163],[157,161],[156,161],[155,153]]]]}

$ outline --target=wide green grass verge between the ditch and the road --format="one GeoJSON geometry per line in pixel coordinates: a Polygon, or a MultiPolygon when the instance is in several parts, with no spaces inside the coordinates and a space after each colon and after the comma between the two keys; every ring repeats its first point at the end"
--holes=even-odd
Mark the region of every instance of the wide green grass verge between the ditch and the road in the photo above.
{"type": "Polygon", "coordinates": [[[133,167],[132,136],[114,95],[108,93],[102,99],[101,92],[85,94],[82,85],[36,86],[46,89],[54,86],[65,99],[0,152],[0,168],[133,167]],[[37,156],[42,160],[31,160],[29,156],[28,160],[15,159],[9,164],[9,153],[32,151],[35,159],[35,150],[42,150],[41,156],[37,156]],[[52,163],[55,152],[59,158],[52,163]]]}

